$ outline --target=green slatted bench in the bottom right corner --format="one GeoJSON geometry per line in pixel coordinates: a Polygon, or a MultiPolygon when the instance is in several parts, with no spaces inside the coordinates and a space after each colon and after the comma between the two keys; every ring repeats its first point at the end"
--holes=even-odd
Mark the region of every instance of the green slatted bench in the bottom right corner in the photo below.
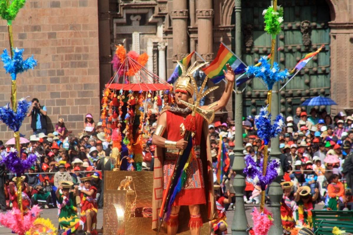
{"type": "Polygon", "coordinates": [[[312,211],[313,229],[317,235],[332,235],[333,227],[353,233],[353,211],[312,211]]]}

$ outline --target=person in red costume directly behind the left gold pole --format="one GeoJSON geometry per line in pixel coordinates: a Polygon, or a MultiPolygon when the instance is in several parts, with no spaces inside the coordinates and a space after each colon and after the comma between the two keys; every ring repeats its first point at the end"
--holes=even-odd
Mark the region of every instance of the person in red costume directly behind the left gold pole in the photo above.
{"type": "MultiPolygon", "coordinates": [[[[24,183],[24,180],[26,177],[24,175],[21,176],[21,184],[22,184],[22,210],[23,214],[27,214],[27,211],[31,208],[31,199],[29,198],[29,186],[27,183],[24,183]]],[[[10,202],[12,202],[12,207],[20,209],[18,207],[18,202],[17,202],[17,188],[15,186],[15,183],[17,181],[17,177],[14,177],[12,179],[13,182],[10,182],[9,184],[9,189],[10,189],[10,202]]]]}

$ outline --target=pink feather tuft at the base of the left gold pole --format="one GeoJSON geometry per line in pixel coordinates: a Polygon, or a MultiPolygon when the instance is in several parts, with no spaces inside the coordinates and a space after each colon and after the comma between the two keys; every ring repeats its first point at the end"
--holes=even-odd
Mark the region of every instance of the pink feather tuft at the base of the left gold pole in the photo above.
{"type": "Polygon", "coordinates": [[[24,235],[32,226],[36,218],[39,216],[41,209],[34,205],[31,210],[27,212],[25,216],[21,216],[21,211],[17,208],[6,212],[6,214],[0,214],[0,224],[6,228],[12,229],[14,233],[24,235]]]}

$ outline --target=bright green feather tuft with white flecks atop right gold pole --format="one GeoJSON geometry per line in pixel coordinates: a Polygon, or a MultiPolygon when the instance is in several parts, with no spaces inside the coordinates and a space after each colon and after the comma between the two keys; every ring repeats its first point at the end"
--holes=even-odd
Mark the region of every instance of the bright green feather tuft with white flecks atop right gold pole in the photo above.
{"type": "Polygon", "coordinates": [[[283,7],[278,6],[277,11],[274,11],[273,6],[270,6],[262,14],[265,19],[265,31],[272,35],[272,37],[275,37],[282,30],[283,7]]]}

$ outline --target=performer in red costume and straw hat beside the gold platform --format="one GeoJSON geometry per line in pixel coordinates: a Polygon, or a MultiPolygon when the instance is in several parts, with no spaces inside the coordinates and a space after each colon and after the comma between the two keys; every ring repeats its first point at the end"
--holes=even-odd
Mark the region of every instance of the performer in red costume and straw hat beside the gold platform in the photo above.
{"type": "Polygon", "coordinates": [[[95,228],[98,212],[97,188],[91,185],[91,180],[91,176],[81,178],[81,182],[83,182],[85,188],[88,190],[80,190],[81,220],[85,223],[87,233],[91,233],[91,229],[95,228]]]}

